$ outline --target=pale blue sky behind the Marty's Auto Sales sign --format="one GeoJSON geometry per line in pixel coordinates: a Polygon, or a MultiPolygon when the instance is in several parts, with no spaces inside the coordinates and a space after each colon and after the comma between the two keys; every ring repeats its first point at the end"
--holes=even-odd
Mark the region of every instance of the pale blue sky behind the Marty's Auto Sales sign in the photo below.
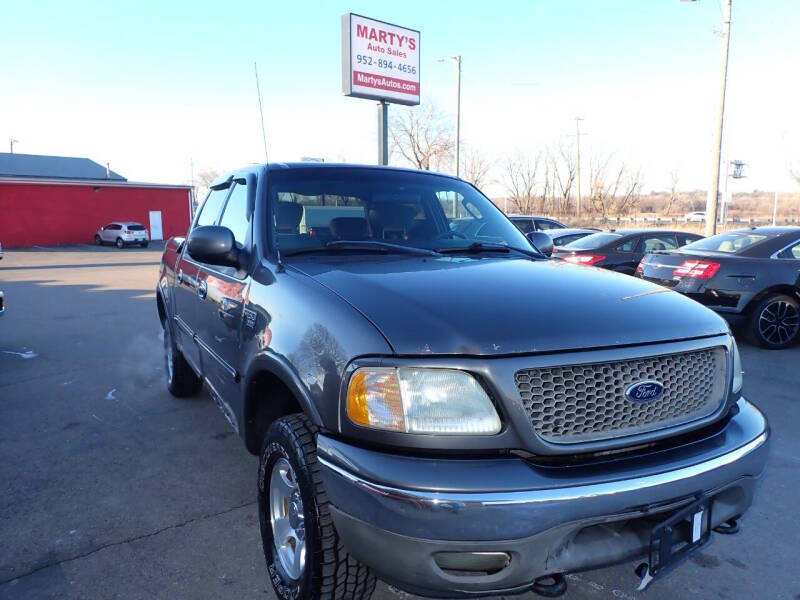
{"type": "MultiPolygon", "coordinates": [[[[734,0],[723,160],[732,191],[797,191],[800,2],[734,0]]],[[[269,159],[374,163],[374,101],[341,90],[341,16],[421,32],[421,95],[492,160],[574,144],[640,168],[645,190],[707,189],[719,95],[717,0],[8,2],[0,151],[85,156],[130,180],[188,183],[269,159]]],[[[393,111],[403,110],[393,105],[393,111]]],[[[399,161],[394,161],[399,162],[399,161]]],[[[588,184],[587,175],[583,177],[588,184]]]]}

